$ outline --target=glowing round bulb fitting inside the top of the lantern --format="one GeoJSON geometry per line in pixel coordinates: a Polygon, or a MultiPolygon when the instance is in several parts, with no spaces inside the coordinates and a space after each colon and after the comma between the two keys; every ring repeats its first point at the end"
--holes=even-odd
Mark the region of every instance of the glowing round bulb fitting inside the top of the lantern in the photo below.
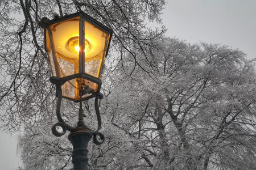
{"type": "MultiPolygon", "coordinates": [[[[67,42],[68,50],[71,51],[72,53],[79,54],[79,37],[71,37],[68,42],[67,42]]],[[[90,51],[90,42],[85,39],[84,41],[84,52],[89,52],[90,51]]]]}

